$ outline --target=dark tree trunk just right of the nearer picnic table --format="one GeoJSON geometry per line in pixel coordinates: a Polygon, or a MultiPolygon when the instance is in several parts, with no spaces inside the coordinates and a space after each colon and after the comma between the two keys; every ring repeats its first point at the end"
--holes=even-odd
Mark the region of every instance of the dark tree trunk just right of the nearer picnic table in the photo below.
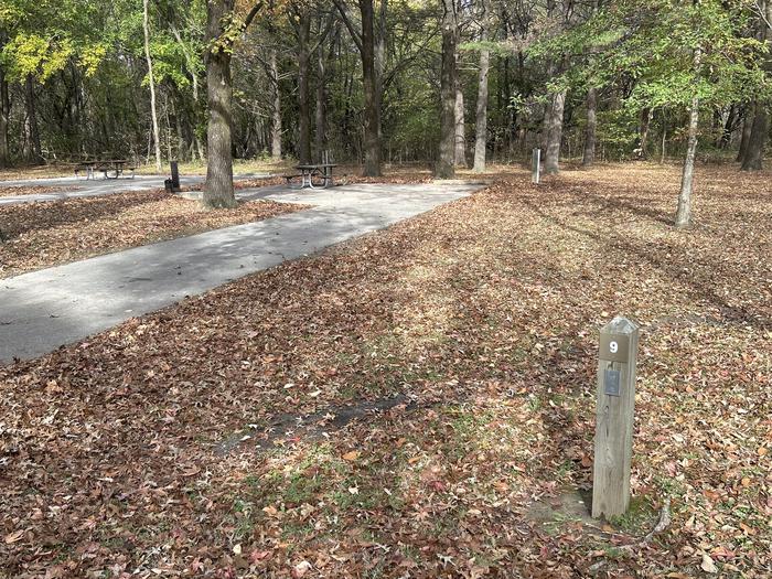
{"type": "MultiPolygon", "coordinates": [[[[380,97],[375,62],[373,0],[360,0],[362,13],[362,77],[365,89],[365,176],[380,175],[380,97]]],[[[380,90],[382,92],[382,90],[380,90]]]]}

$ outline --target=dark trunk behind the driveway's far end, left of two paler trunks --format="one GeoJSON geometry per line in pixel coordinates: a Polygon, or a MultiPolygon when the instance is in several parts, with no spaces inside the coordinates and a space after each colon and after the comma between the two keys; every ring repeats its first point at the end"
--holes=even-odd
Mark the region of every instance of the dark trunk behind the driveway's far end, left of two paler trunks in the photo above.
{"type": "Polygon", "coordinates": [[[438,179],[453,179],[455,144],[455,51],[458,20],[455,0],[442,0],[442,72],[440,75],[440,148],[435,167],[438,179]]]}

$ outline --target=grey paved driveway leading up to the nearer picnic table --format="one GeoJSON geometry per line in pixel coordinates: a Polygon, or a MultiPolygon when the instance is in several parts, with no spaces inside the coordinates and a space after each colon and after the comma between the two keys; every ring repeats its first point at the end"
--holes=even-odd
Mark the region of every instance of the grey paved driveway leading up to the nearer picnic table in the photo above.
{"type": "Polygon", "coordinates": [[[319,191],[243,191],[239,196],[246,199],[314,206],[0,280],[0,362],[45,354],[131,317],[387,227],[478,189],[471,184],[361,184],[319,191]]]}

